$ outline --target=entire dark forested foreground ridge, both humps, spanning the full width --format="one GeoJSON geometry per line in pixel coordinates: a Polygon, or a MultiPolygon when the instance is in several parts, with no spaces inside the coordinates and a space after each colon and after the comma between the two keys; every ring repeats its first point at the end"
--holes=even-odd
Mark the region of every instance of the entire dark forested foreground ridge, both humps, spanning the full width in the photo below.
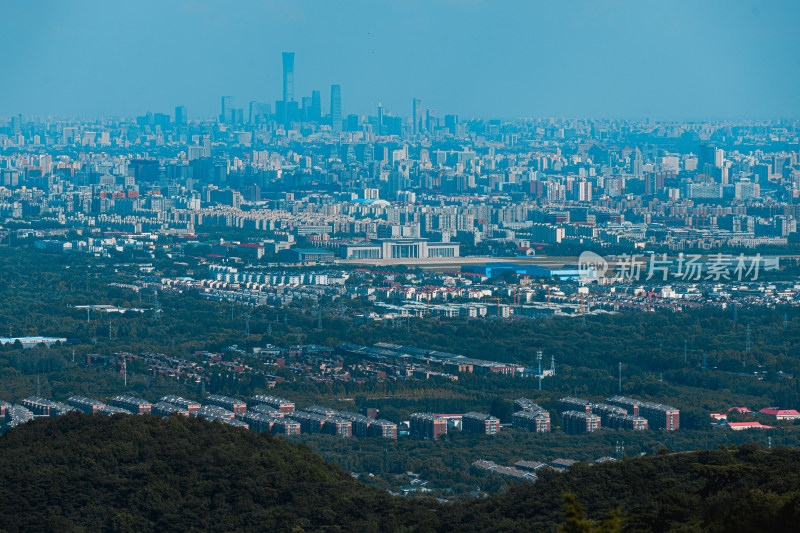
{"type": "Polygon", "coordinates": [[[304,446],[202,419],[66,416],[0,437],[1,531],[795,531],[800,451],[631,458],[469,504],[389,496],[304,446]],[[570,517],[567,521],[566,516],[570,517]]]}

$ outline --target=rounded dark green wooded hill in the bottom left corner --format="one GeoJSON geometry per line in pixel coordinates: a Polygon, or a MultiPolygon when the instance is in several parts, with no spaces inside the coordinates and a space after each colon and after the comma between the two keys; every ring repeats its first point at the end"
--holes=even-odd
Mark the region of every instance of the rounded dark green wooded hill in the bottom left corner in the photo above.
{"type": "Polygon", "coordinates": [[[0,437],[6,531],[432,531],[422,503],[201,419],[70,414],[0,437]]]}

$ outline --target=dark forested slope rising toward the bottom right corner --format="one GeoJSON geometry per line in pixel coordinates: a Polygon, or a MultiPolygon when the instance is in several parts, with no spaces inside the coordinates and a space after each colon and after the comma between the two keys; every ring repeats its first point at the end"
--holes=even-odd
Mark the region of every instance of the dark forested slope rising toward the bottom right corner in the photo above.
{"type": "Polygon", "coordinates": [[[468,506],[454,507],[459,531],[555,531],[571,492],[592,518],[619,507],[623,531],[780,532],[800,524],[800,451],[738,449],[661,454],[545,473],[468,506]]]}

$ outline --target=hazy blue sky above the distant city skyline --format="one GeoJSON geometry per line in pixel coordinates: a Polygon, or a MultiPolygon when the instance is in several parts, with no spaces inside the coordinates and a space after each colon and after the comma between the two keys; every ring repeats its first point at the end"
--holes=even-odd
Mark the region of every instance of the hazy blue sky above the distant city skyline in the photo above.
{"type": "Polygon", "coordinates": [[[319,89],[345,113],[800,116],[800,1],[0,0],[0,116],[190,118],[319,89]]]}

